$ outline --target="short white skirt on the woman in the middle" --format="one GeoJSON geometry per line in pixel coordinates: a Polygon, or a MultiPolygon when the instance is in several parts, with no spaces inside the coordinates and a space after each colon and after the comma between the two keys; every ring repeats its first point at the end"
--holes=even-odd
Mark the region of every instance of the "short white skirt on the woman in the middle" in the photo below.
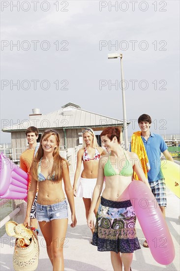
{"type": "Polygon", "coordinates": [[[77,196],[79,198],[86,198],[86,199],[92,199],[92,194],[94,187],[96,185],[97,179],[87,179],[87,178],[80,178],[78,190],[77,190],[77,196]]]}

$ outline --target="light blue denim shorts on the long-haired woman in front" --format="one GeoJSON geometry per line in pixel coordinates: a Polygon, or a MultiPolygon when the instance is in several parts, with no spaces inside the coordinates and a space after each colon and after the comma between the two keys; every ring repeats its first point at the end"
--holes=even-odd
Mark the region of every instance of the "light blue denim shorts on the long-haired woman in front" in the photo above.
{"type": "Polygon", "coordinates": [[[38,221],[49,222],[54,219],[68,218],[67,201],[51,205],[36,204],[36,218],[38,221]]]}

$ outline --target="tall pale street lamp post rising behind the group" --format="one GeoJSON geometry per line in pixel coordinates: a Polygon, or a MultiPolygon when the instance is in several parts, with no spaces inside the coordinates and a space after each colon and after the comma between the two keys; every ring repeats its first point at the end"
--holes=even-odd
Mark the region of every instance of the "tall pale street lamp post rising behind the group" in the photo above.
{"type": "Polygon", "coordinates": [[[122,54],[108,54],[108,59],[114,59],[120,57],[120,70],[121,70],[121,88],[122,88],[122,108],[123,108],[123,132],[124,132],[124,144],[125,150],[128,150],[128,137],[127,137],[127,119],[126,119],[126,107],[125,107],[125,94],[124,94],[124,74],[122,66],[122,54]]]}

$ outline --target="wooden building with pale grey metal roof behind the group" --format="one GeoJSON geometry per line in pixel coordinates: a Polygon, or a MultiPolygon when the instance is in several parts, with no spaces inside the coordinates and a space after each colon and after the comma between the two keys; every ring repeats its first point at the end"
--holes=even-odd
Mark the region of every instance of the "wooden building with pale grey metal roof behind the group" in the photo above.
{"type": "MultiPolygon", "coordinates": [[[[98,135],[100,135],[100,131],[110,126],[117,126],[121,132],[123,131],[123,121],[87,111],[79,105],[69,102],[59,110],[47,114],[41,114],[38,108],[32,109],[29,119],[2,129],[3,132],[11,133],[13,149],[18,150],[27,147],[25,131],[30,126],[38,128],[40,134],[38,141],[40,141],[41,135],[46,129],[57,130],[60,134],[61,149],[72,148],[81,144],[82,131],[86,127],[90,127],[95,131],[97,139],[99,139],[98,135]]],[[[20,154],[21,151],[19,151],[19,156],[20,154]]]]}

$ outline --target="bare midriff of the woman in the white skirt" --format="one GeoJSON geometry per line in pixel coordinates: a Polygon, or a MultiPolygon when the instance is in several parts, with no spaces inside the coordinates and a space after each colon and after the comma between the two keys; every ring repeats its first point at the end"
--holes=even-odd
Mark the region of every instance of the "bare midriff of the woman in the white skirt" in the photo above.
{"type": "Polygon", "coordinates": [[[82,178],[95,179],[97,178],[98,161],[90,160],[83,162],[83,171],[81,173],[82,178]]]}

